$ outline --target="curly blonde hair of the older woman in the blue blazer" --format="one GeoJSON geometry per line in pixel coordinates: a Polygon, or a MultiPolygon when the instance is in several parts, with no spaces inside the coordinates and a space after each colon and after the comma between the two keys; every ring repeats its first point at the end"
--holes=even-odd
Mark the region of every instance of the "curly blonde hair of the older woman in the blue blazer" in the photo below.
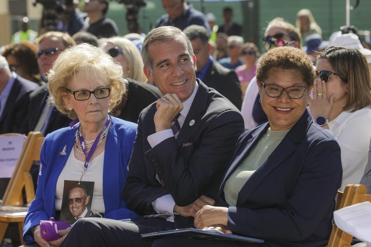
{"type": "Polygon", "coordinates": [[[120,103],[125,93],[125,79],[122,68],[114,62],[102,49],[90,44],[79,44],[64,50],[58,56],[52,69],[47,75],[50,97],[49,104],[55,104],[56,108],[70,119],[78,116],[74,110],[69,110],[64,101],[63,92],[68,93],[68,86],[77,73],[89,79],[103,78],[107,87],[111,88],[109,96],[108,112],[112,111],[120,103]]]}

